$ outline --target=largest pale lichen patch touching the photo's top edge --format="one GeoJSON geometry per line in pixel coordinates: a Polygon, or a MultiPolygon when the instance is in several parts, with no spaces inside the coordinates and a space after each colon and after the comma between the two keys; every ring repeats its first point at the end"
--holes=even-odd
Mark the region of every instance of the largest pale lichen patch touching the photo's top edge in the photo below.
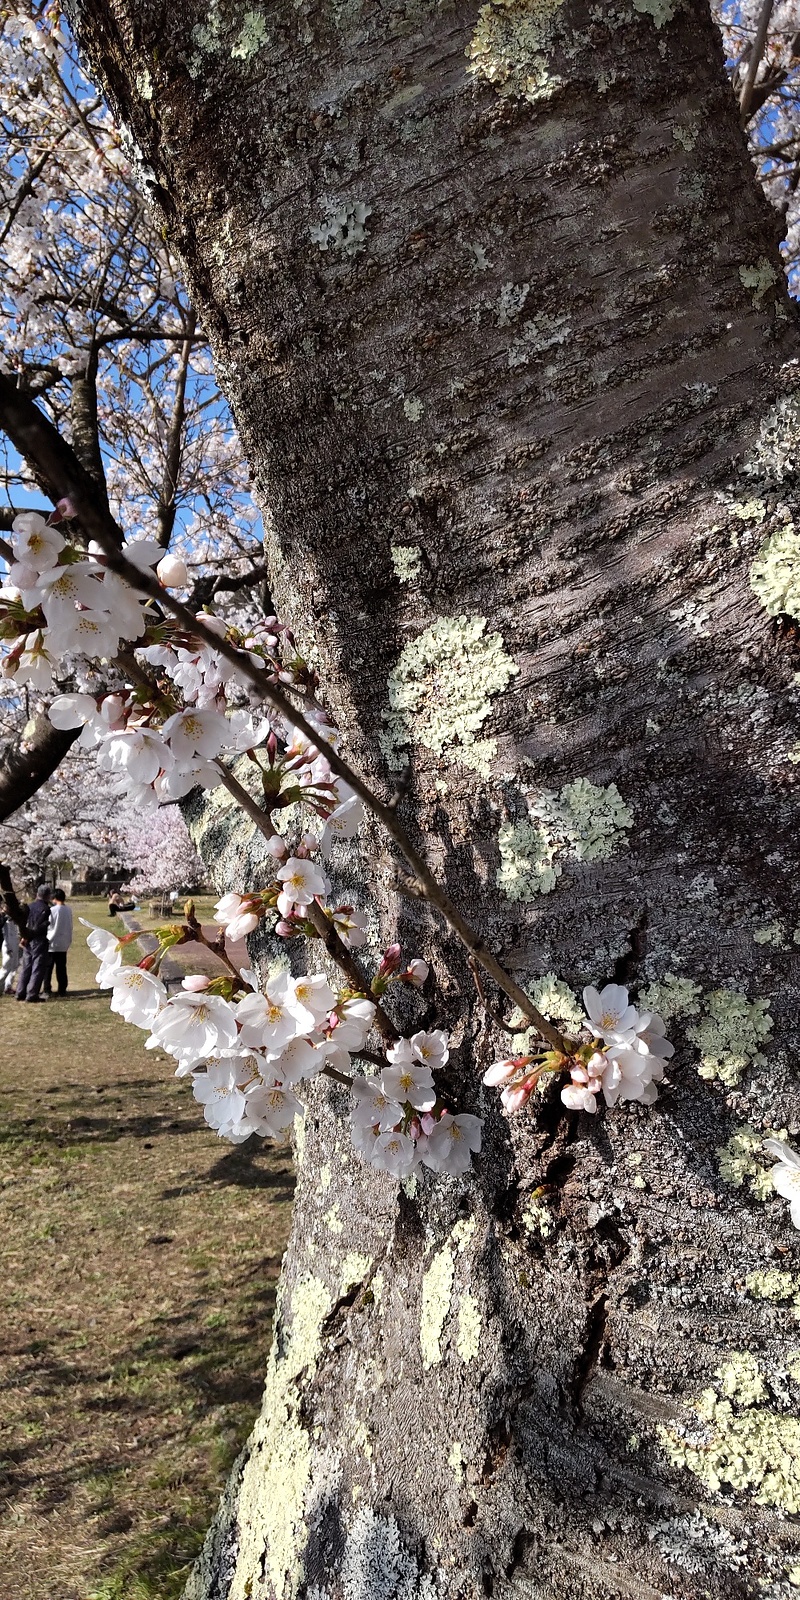
{"type": "Polygon", "coordinates": [[[488,0],[467,45],[467,72],[504,96],[531,104],[562,85],[547,51],[563,0],[488,0]]]}

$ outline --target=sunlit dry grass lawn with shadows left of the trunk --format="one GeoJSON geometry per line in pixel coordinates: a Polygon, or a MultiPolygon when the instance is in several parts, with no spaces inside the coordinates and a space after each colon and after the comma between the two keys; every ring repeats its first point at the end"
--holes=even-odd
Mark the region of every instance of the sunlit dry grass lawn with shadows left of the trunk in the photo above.
{"type": "Polygon", "coordinates": [[[0,1594],[173,1600],[258,1411],[291,1162],[205,1126],[75,926],[67,1000],[0,998],[0,1594]]]}

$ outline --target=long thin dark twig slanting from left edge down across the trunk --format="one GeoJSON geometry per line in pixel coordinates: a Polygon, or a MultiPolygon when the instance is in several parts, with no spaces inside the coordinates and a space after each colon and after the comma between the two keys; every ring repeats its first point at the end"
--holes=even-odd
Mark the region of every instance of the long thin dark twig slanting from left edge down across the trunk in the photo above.
{"type": "Polygon", "coordinates": [[[226,638],[214,634],[202,619],[195,618],[181,600],[174,600],[173,595],[170,595],[162,584],[158,584],[152,573],[139,571],[139,568],[133,566],[133,563],[126,560],[122,550],[122,530],[110,512],[102,506],[93,480],[82,469],[74,451],[66,440],[61,438],[59,432],[53,427],[48,418],[27,395],[21,394],[14,387],[13,381],[3,373],[0,373],[0,422],[19,453],[34,462],[50,483],[59,486],[56,498],[69,496],[75,507],[75,515],[82,523],[83,534],[96,539],[109,568],[125,578],[131,589],[147,594],[150,598],[157,600],[158,605],[174,616],[189,634],[202,638],[203,643],[211,646],[211,650],[221,654],[226,661],[230,661],[237,667],[238,674],[258,690],[261,698],[272,704],[290,725],[304,733],[306,738],[325,755],[331,771],[334,771],[338,778],[342,778],[354,794],[363,800],[373,816],[382,822],[386,832],[411,867],[424,898],[435,906],[453,933],[466,946],[469,954],[480,963],[483,971],[493,978],[498,987],[515,1000],[523,1016],[533,1024],[533,1027],[536,1027],[542,1038],[546,1038],[554,1050],[563,1051],[565,1045],[558,1030],[552,1027],[547,1018],[542,1016],[541,1011],[531,1003],[525,990],[520,989],[514,978],[510,978],[510,974],[501,966],[496,955],[493,955],[493,952],[483,944],[480,934],[470,926],[466,917],[462,917],[448,898],[421,851],[408,838],[408,834],[397,819],[397,813],[379,800],[365,779],[346,760],[342,760],[338,750],[334,750],[326,739],[322,738],[318,728],[315,728],[307,717],[304,717],[302,710],[293,704],[283,686],[274,683],[264,669],[253,666],[246,651],[238,651],[235,645],[230,645],[226,638]]]}

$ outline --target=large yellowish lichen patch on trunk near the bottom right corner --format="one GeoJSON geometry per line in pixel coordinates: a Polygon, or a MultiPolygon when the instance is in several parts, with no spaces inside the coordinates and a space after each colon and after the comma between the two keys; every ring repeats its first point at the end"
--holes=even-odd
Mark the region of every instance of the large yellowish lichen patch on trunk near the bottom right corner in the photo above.
{"type": "Polygon", "coordinates": [[[712,1491],[749,1493],[757,1506],[800,1512],[800,1421],[765,1405],[757,1358],[736,1350],[717,1386],[691,1403],[699,1426],[659,1429],[667,1456],[712,1491]]]}

